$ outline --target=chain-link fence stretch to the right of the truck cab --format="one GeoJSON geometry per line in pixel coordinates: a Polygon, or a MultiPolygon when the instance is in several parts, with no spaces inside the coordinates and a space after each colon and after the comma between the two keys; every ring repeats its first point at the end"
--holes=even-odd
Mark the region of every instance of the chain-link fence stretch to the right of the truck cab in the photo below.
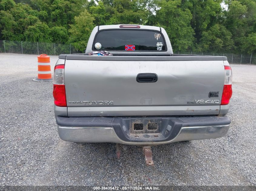
{"type": "Polygon", "coordinates": [[[205,55],[205,56],[226,56],[231,64],[256,64],[256,55],[233,54],[233,53],[199,53],[199,52],[175,52],[175,54],[205,55]]]}

